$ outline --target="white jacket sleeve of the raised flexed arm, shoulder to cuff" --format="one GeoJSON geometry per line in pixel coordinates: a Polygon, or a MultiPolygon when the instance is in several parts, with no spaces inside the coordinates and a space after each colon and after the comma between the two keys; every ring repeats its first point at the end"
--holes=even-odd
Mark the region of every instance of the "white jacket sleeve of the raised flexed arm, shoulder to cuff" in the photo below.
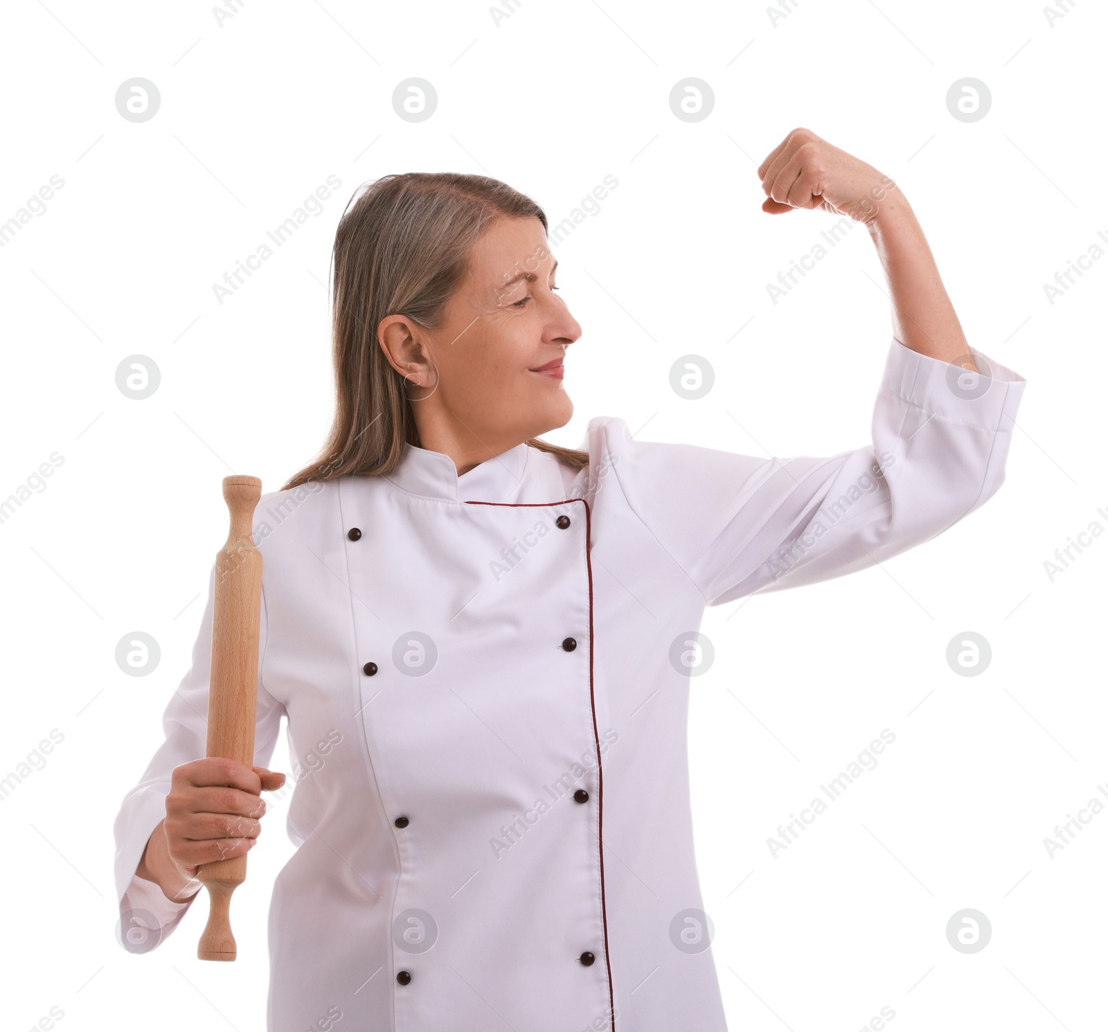
{"type": "Polygon", "coordinates": [[[830,458],[753,458],[633,440],[602,418],[619,488],[708,605],[861,570],[942,533],[1004,482],[1026,381],[971,348],[988,376],[895,338],[872,441],[830,458]]]}

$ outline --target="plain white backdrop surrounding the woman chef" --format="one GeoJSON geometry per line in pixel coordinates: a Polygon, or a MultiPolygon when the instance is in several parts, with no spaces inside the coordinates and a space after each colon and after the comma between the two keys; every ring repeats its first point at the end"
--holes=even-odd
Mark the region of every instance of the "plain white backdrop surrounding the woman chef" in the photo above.
{"type": "MultiPolygon", "coordinates": [[[[1054,304],[1044,284],[1108,235],[1106,14],[784,9],[774,23],[756,3],[521,0],[497,23],[483,3],[248,0],[220,23],[204,3],[4,6],[0,222],[64,181],[0,248],[0,498],[64,459],[0,523],[0,776],[64,735],[0,809],[6,1029],[52,1007],[62,1029],[264,1026],[287,799],[234,898],[234,964],[196,960],[206,900],[155,951],[120,948],[112,821],[188,665],[226,537],[222,478],[275,490],[329,425],[328,259],[356,188],[483,173],[554,223],[615,176],[556,248],[584,336],[574,418],[546,438],[576,447],[615,415],[644,440],[833,454],[869,439],[890,306],[861,227],[771,303],[767,284],[835,222],[760,211],[755,170],[799,125],[896,181],[968,340],[1029,382],[984,509],[880,568],[706,615],[693,797],[730,1026],[847,1032],[883,1007],[903,1032],[1104,1026],[1108,816],[1053,858],[1044,838],[1108,790],[1108,541],[1053,582],[1044,561],[1108,527],[1108,262],[1054,304]],[[134,76],[161,93],[142,123],[115,109],[134,76]],[[391,101],[411,76],[438,93],[420,123],[391,101]],[[668,100],[688,76],[715,94],[694,123],[668,100]],[[992,93],[972,123],[946,105],[964,76],[992,93]],[[220,305],[213,284],[331,174],[322,213],[220,305]],[[699,401],[669,387],[688,352],[716,370],[699,401]],[[135,354],[162,376],[142,401],[115,384],[135,354]],[[162,648],[145,677],[114,658],[136,630],[162,648]],[[946,663],[963,631],[992,645],[977,676],[946,663]],[[883,728],[876,768],[774,859],[778,825],[883,728]],[[964,908],[992,923],[975,953],[946,937],[964,908]]],[[[287,760],[283,735],[273,766],[287,760]]]]}

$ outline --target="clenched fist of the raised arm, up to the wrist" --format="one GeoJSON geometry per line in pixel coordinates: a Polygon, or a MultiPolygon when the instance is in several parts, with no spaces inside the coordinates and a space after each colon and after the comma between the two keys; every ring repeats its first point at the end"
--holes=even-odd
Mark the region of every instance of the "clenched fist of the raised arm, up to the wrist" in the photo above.
{"type": "Polygon", "coordinates": [[[810,129],[789,133],[758,166],[758,175],[767,194],[762,211],[771,215],[820,207],[869,224],[890,192],[896,191],[889,176],[810,129]]]}

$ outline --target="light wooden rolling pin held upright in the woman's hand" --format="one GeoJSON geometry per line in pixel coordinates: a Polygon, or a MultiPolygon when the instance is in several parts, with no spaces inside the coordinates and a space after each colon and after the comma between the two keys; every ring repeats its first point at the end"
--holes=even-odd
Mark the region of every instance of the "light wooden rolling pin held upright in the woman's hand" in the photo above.
{"type": "MultiPolygon", "coordinates": [[[[230,510],[230,533],[216,555],[212,624],[212,680],[208,697],[207,755],[254,766],[254,721],[258,705],[258,629],[261,619],[261,553],[250,535],[261,497],[257,477],[224,477],[223,498],[230,510]]],[[[234,960],[230,893],[246,880],[246,854],[204,864],[196,877],[207,886],[208,922],[196,956],[234,960]]]]}

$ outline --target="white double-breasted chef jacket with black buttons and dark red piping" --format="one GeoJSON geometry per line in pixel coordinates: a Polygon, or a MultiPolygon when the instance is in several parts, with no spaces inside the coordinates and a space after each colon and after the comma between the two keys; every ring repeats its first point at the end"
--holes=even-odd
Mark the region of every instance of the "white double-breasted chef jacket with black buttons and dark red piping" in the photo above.
{"type": "MultiPolygon", "coordinates": [[[[286,715],[306,772],[269,1032],[336,1007],[375,1032],[725,1032],[686,752],[704,609],[869,566],[991,498],[1026,382],[983,357],[965,397],[893,339],[872,441],[830,458],[638,441],[602,416],[579,472],[521,443],[459,477],[406,445],[388,476],[263,494],[254,763],[286,715]]],[[[120,912],[160,941],[189,903],[135,869],[173,768],[205,754],[213,585],[115,821],[120,912]]]]}

